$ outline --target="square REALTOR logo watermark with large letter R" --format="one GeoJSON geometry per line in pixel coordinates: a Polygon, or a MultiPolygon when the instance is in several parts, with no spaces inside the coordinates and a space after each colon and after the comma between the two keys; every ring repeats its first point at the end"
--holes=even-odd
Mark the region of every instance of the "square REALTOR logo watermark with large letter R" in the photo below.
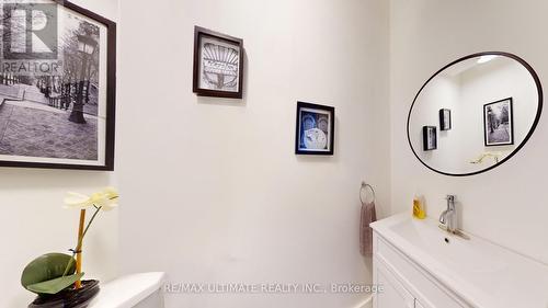
{"type": "Polygon", "coordinates": [[[0,1],[2,5],[2,73],[61,73],[58,58],[57,3],[0,1]]]}

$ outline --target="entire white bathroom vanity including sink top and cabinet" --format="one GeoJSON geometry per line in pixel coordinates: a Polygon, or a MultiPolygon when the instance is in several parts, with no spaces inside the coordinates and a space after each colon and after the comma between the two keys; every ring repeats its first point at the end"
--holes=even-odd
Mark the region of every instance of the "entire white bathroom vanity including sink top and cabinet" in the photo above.
{"type": "Polygon", "coordinates": [[[432,219],[399,214],[374,229],[374,308],[548,307],[548,266],[432,219]]]}

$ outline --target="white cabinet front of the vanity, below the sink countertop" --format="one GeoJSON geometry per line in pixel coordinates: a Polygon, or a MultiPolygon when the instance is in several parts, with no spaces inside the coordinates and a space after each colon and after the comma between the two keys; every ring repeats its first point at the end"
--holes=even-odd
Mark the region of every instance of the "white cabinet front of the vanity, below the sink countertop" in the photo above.
{"type": "Polygon", "coordinates": [[[374,308],[468,308],[378,233],[374,235],[374,308]]]}

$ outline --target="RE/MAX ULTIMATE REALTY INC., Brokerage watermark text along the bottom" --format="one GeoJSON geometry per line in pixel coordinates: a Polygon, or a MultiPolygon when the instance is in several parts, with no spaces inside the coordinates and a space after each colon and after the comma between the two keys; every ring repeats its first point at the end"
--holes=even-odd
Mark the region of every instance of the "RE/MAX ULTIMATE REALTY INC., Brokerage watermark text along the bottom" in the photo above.
{"type": "Polygon", "coordinates": [[[383,293],[383,285],[358,283],[167,283],[168,294],[370,294],[383,293]]]}

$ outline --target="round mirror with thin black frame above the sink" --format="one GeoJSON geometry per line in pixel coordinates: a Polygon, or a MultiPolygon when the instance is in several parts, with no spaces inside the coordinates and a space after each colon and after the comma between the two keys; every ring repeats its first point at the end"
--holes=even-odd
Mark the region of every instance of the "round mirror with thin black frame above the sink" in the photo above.
{"type": "Polygon", "coordinates": [[[540,118],[543,88],[533,68],[507,53],[458,59],[419,90],[408,117],[416,158],[446,175],[472,175],[514,156],[540,118]]]}

